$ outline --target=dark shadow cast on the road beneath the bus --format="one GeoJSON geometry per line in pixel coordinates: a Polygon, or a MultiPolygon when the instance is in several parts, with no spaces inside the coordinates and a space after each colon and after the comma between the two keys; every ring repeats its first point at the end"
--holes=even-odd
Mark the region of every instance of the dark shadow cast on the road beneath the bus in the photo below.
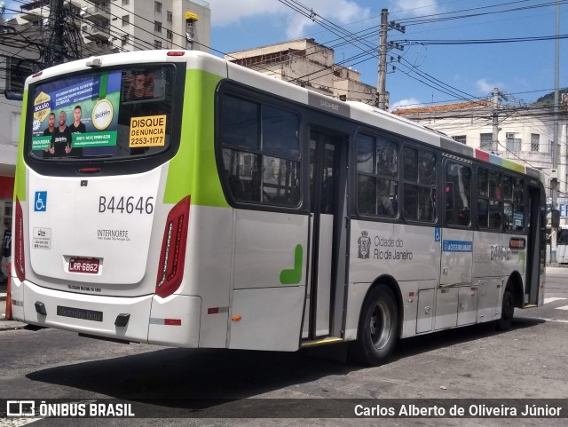
{"type": "MultiPolygon", "coordinates": [[[[542,322],[515,318],[513,328],[531,328],[542,322]]],[[[401,340],[393,360],[496,334],[499,333],[493,324],[484,324],[401,340]]],[[[315,359],[304,352],[163,349],[42,369],[27,377],[103,397],[184,408],[193,405],[191,399],[246,399],[326,376],[345,376],[359,369],[364,368],[315,359]]],[[[381,376],[381,372],[390,367],[386,364],[370,369],[374,369],[373,376],[381,376]]],[[[297,397],[293,390],[287,392],[283,397],[297,397]]]]}

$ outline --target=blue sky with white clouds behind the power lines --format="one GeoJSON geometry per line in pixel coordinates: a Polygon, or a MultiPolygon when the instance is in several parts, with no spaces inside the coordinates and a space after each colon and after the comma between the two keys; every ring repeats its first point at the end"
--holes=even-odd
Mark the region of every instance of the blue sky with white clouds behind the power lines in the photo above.
{"type": "MultiPolygon", "coordinates": [[[[563,36],[568,35],[568,1],[559,3],[559,34],[563,36]]],[[[214,54],[308,37],[330,47],[337,45],[335,62],[345,60],[344,66],[356,69],[362,82],[374,86],[378,58],[376,51],[370,51],[378,46],[381,10],[388,9],[389,21],[406,26],[404,34],[389,30],[389,41],[415,41],[405,43],[404,51],[393,49],[387,54],[390,109],[486,99],[491,97],[493,88],[499,88],[509,102],[522,105],[553,91],[555,86],[553,39],[461,42],[554,37],[556,0],[210,0],[209,4],[214,54]],[[314,20],[287,4],[315,13],[314,20]],[[478,16],[464,18],[465,15],[478,16]],[[356,37],[351,37],[351,43],[346,43],[340,37],[342,30],[359,34],[359,41],[354,42],[356,37]],[[428,43],[432,40],[455,43],[428,43]],[[351,59],[362,52],[367,55],[351,59]],[[390,57],[394,62],[390,62],[390,57]]],[[[561,39],[561,88],[568,86],[567,48],[568,39],[561,39]]]]}

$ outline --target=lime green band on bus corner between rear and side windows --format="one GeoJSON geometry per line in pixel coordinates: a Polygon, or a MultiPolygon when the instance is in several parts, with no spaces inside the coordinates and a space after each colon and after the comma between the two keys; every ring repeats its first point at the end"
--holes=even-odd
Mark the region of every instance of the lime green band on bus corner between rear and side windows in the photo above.
{"type": "Polygon", "coordinates": [[[181,144],[170,162],[164,203],[191,195],[193,205],[228,208],[215,162],[215,90],[222,77],[187,70],[181,144]]]}

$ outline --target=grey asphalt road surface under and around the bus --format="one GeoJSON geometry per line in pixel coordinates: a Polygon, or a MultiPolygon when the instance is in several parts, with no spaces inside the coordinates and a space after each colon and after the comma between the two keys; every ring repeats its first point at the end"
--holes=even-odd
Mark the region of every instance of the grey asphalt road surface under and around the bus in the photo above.
{"type": "MultiPolygon", "coordinates": [[[[154,401],[148,419],[8,419],[0,427],[99,425],[289,426],[565,426],[568,418],[327,419],[312,399],[568,399],[568,268],[549,268],[547,304],[517,310],[513,328],[458,328],[399,342],[390,363],[361,368],[304,352],[169,349],[114,344],[54,329],[0,332],[0,399],[116,398],[154,401]],[[187,399],[213,400],[201,414],[177,419],[187,399]],[[265,399],[258,405],[256,399],[265,399]],[[294,399],[294,400],[269,400],[294,399]],[[253,402],[250,405],[249,402],[253,402]],[[291,403],[290,403],[291,402],[291,403]],[[298,418],[214,418],[232,406],[298,418]],[[256,405],[256,407],[255,407],[256,405]],[[319,418],[302,419],[307,407],[319,418]],[[280,411],[280,412],[279,412],[280,411]],[[317,412],[316,412],[317,414],[317,412]]],[[[2,412],[0,407],[0,413],[2,412]]],[[[327,407],[333,412],[333,407],[327,407]]],[[[309,412],[309,411],[308,411],[309,412]]],[[[312,413],[313,414],[313,413],[312,413]]]]}

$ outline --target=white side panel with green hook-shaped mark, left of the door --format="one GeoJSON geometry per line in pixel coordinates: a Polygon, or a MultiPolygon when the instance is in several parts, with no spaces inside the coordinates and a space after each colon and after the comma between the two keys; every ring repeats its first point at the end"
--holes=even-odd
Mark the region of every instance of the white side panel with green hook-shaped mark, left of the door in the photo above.
{"type": "Polygon", "coordinates": [[[305,298],[307,215],[234,210],[229,347],[297,350],[305,298]]]}

